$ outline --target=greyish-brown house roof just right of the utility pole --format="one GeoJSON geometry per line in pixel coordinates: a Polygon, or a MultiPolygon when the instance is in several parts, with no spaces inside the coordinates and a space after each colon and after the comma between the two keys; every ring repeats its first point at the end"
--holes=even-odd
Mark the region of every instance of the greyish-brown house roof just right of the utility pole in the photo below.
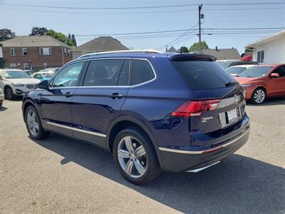
{"type": "Polygon", "coordinates": [[[223,59],[239,59],[239,51],[237,49],[204,49],[203,54],[215,56],[217,60],[223,59]]]}

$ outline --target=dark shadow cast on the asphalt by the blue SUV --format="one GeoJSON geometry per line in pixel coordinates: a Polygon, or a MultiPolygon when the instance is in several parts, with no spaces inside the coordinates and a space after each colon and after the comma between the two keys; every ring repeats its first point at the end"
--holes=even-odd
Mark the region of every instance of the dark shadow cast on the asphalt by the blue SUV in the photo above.
{"type": "MultiPolygon", "coordinates": [[[[285,170],[234,154],[199,173],[162,173],[144,186],[124,180],[112,155],[82,141],[51,134],[33,141],[94,173],[182,213],[284,213],[285,170]]],[[[133,200],[133,199],[132,199],[133,200]]]]}

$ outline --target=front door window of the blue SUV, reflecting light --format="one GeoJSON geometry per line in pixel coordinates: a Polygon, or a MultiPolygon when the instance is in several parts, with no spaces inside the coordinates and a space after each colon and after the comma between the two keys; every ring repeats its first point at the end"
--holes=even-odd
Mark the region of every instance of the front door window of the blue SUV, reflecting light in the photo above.
{"type": "Polygon", "coordinates": [[[61,70],[53,79],[53,87],[77,86],[79,74],[83,68],[84,61],[72,63],[61,70]]]}

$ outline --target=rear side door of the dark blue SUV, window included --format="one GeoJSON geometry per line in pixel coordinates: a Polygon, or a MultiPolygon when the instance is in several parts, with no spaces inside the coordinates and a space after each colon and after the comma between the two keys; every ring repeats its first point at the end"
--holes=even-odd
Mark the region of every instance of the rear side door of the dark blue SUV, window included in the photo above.
{"type": "Polygon", "coordinates": [[[73,98],[73,136],[105,146],[110,123],[119,116],[129,88],[130,59],[91,60],[73,98]]]}

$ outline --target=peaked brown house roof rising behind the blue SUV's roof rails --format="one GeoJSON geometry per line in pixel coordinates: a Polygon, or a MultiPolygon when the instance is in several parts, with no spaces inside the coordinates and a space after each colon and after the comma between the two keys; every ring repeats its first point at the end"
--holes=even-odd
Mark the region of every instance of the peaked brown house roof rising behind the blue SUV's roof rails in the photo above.
{"type": "Polygon", "coordinates": [[[86,42],[81,46],[76,47],[72,51],[123,51],[129,50],[126,46],[120,43],[117,39],[112,36],[100,36],[96,39],[86,42]]]}

